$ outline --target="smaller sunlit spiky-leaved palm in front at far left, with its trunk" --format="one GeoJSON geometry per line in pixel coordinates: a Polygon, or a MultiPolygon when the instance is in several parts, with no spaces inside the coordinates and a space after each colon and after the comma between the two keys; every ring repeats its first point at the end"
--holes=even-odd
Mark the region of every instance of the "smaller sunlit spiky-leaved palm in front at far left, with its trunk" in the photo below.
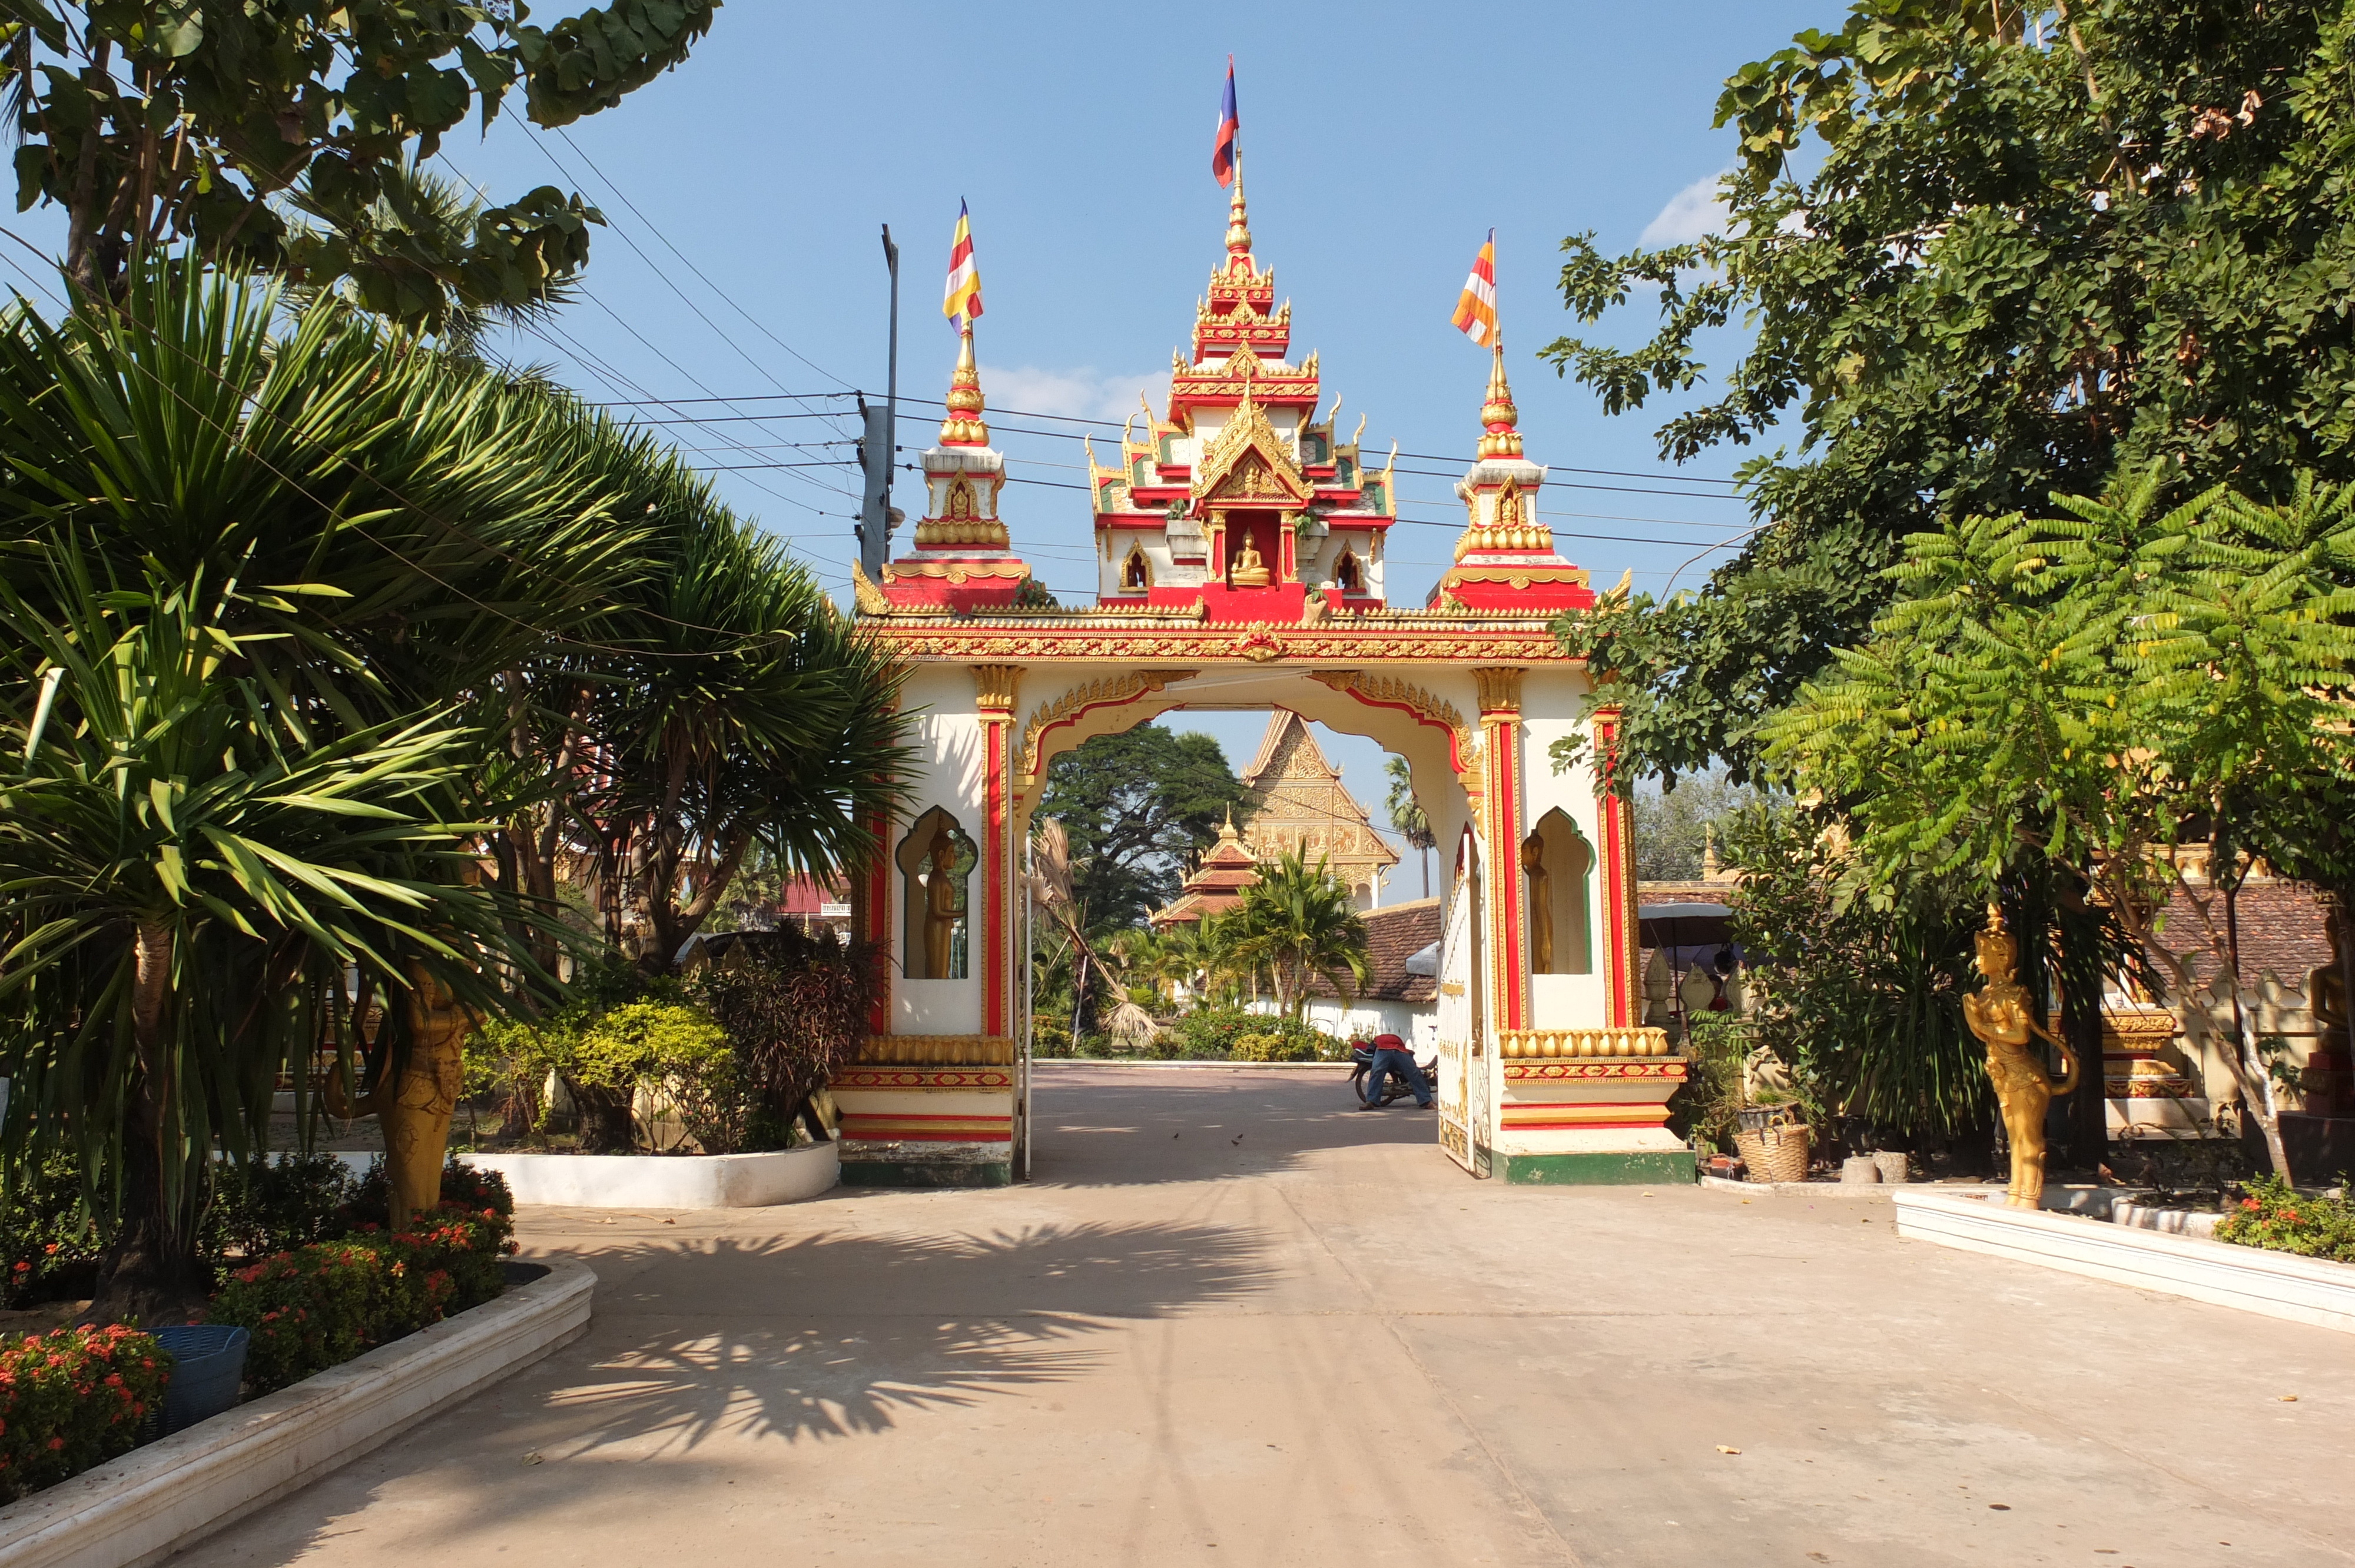
{"type": "Polygon", "coordinates": [[[478,737],[440,716],[311,737],[224,676],[224,586],[104,582],[78,544],[45,551],[52,610],[0,582],[9,1144],[71,1147],[118,1217],[92,1316],[186,1321],[207,1156],[259,1147],[278,1071],[301,1081],[349,1022],[346,968],[518,954],[450,819],[478,737]]]}

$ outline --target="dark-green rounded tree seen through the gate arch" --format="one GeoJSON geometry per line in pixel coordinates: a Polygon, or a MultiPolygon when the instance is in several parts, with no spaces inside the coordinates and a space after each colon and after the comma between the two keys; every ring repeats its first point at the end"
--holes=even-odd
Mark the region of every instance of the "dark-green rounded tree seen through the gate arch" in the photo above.
{"type": "Polygon", "coordinates": [[[1178,897],[1187,857],[1239,805],[1251,805],[1251,791],[1215,739],[1137,725],[1048,763],[1039,815],[1072,838],[1072,895],[1088,930],[1121,930],[1178,897]]]}

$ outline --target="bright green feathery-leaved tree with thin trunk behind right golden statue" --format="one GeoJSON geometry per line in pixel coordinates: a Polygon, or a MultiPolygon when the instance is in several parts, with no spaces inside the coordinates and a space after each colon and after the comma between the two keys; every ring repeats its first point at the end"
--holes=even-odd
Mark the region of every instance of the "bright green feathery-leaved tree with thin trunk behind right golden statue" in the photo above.
{"type": "Polygon", "coordinates": [[[2185,1001],[2197,977],[2155,937],[2169,902],[2188,909],[2287,1177],[2235,902],[2277,848],[2280,869],[2346,888],[2343,862],[2294,855],[2317,841],[2313,817],[2355,812],[2355,487],[2298,487],[2287,506],[2157,497],[2152,473],[2103,501],[2063,497],[2056,523],[1966,518],[1912,539],[1872,640],[1839,650],[1837,676],[1764,735],[1797,784],[1849,808],[1877,899],[1912,873],[1999,897],[2042,862],[2096,890],[2185,1001]]]}

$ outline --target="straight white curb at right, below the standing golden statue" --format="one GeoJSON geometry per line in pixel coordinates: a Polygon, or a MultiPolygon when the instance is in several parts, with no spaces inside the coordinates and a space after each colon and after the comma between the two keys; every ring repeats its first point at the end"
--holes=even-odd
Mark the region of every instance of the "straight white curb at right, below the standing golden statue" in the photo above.
{"type": "Polygon", "coordinates": [[[1889,1196],[1898,1205],[1898,1236],[2355,1333],[2350,1264],[2006,1208],[2002,1201],[1922,1187],[1891,1187],[1889,1196]]]}

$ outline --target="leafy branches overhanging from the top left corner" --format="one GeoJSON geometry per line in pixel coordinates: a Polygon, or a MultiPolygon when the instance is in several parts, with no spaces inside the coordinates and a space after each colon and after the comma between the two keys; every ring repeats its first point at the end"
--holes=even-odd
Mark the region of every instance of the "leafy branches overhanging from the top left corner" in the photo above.
{"type": "Polygon", "coordinates": [[[714,9],[612,0],[539,26],[520,0],[9,0],[16,207],[66,210],[66,271],[89,292],[186,238],[294,283],[349,280],[403,323],[520,306],[579,271],[598,212],[539,186],[452,231],[417,205],[407,160],[469,113],[487,127],[518,87],[535,125],[610,108],[681,64],[714,9]]]}

